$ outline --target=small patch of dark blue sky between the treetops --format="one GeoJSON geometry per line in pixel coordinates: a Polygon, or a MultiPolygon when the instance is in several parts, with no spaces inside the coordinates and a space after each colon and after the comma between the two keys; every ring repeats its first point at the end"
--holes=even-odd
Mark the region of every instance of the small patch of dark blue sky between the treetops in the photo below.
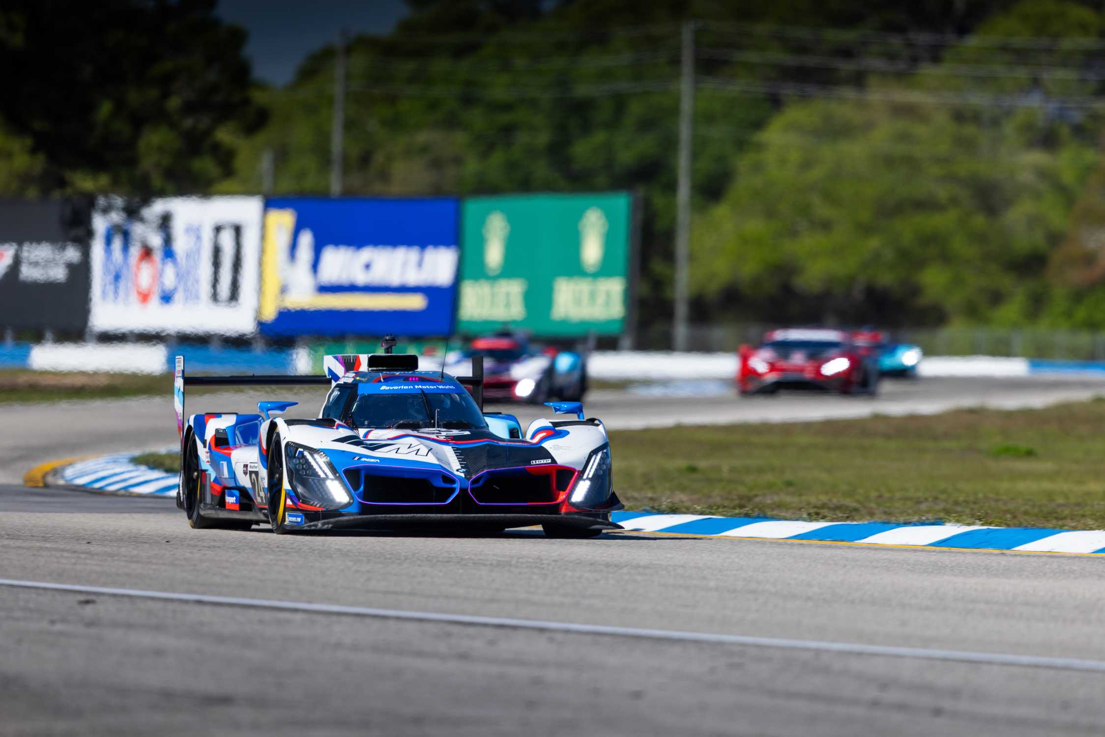
{"type": "Polygon", "coordinates": [[[403,0],[219,0],[217,14],[250,32],[253,76],[285,84],[311,52],[351,34],[387,33],[407,14],[403,0]]]}

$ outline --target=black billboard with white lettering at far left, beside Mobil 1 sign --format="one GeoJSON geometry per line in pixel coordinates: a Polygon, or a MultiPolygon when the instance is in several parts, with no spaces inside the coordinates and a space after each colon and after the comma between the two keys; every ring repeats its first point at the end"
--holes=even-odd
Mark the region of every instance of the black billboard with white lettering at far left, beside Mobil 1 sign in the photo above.
{"type": "Polygon", "coordinates": [[[83,333],[91,201],[0,200],[0,327],[83,333]]]}

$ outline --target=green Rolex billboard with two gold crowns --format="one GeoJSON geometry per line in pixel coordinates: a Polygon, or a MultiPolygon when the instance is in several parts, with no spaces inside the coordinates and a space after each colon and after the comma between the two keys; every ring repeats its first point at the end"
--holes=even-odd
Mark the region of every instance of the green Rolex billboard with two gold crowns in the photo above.
{"type": "Polygon", "coordinates": [[[461,224],[459,326],[617,335],[629,296],[632,196],[473,197],[461,224]]]}

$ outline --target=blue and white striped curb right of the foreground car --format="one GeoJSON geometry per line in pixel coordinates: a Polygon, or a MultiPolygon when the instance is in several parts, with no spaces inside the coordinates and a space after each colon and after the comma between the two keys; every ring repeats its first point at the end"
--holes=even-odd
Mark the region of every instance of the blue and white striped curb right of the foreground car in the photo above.
{"type": "Polygon", "coordinates": [[[711,517],[644,512],[615,512],[611,518],[627,530],[642,533],[1025,552],[1105,554],[1105,530],[1102,529],[793,522],[766,517],[711,517]]]}

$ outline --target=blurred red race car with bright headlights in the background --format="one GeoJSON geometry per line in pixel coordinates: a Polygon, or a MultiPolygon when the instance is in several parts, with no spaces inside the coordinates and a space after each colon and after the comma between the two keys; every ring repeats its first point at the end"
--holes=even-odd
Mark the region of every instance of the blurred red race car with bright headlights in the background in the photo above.
{"type": "MultiPolygon", "coordinates": [[[[865,341],[864,341],[865,343],[865,341]]],[[[758,348],[740,346],[737,390],[822,389],[842,394],[878,391],[878,357],[844,330],[788,328],[764,335],[758,348]]]]}

